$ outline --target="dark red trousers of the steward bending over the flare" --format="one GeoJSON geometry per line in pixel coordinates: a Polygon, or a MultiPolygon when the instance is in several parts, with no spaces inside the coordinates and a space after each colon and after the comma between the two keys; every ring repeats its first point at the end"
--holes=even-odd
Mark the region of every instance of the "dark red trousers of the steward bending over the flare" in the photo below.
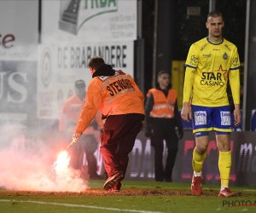
{"type": "Polygon", "coordinates": [[[125,176],[129,161],[128,154],[143,126],[143,114],[131,113],[109,116],[101,135],[101,153],[108,176],[122,171],[125,176]]]}

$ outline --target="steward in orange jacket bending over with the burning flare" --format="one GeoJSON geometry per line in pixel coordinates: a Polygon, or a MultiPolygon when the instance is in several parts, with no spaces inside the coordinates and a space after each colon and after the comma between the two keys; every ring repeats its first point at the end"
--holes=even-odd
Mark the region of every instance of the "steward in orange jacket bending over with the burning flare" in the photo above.
{"type": "Polygon", "coordinates": [[[108,173],[103,188],[120,190],[129,162],[128,154],[143,128],[144,95],[131,75],[113,70],[102,57],[93,57],[89,64],[92,80],[85,98],[73,141],[78,141],[94,118],[97,110],[106,118],[101,135],[102,159],[108,173]]]}

